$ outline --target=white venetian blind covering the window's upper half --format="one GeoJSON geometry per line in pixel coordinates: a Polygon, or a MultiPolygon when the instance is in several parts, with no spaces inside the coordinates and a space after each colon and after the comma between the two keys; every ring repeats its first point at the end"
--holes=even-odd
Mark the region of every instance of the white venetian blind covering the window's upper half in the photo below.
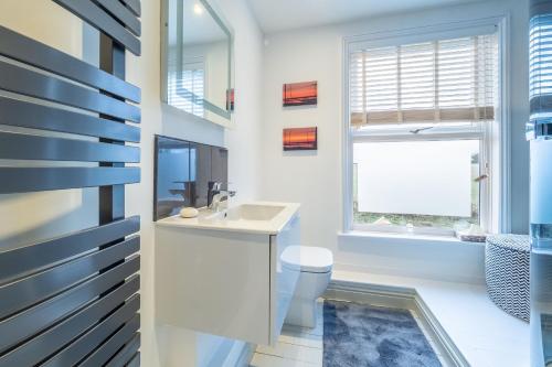
{"type": "Polygon", "coordinates": [[[492,120],[497,71],[496,33],[354,52],[351,125],[492,120]]]}

